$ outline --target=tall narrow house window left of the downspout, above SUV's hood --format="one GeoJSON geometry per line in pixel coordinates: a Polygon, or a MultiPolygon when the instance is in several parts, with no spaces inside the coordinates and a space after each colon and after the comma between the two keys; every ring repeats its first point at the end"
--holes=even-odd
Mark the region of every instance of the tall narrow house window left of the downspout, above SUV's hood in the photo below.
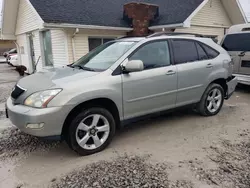
{"type": "Polygon", "coordinates": [[[51,44],[51,32],[50,30],[42,32],[43,38],[43,51],[45,66],[53,66],[52,44],[51,44]]]}

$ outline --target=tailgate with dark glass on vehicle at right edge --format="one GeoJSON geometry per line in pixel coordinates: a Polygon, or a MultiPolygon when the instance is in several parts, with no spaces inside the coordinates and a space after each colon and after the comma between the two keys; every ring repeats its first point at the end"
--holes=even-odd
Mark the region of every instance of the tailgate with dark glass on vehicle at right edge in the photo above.
{"type": "Polygon", "coordinates": [[[250,32],[227,35],[222,47],[234,62],[234,74],[250,75],[250,32]]]}

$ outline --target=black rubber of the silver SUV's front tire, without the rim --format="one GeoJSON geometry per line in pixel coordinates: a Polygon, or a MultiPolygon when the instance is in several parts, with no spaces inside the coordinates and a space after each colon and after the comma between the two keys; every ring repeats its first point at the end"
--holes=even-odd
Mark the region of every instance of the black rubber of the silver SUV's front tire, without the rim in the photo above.
{"type": "Polygon", "coordinates": [[[80,112],[71,122],[69,128],[68,128],[68,135],[66,138],[66,142],[68,143],[69,147],[71,149],[73,149],[74,151],[76,151],[78,154],[85,156],[85,155],[91,155],[97,152],[100,152],[102,150],[104,150],[112,141],[114,135],[115,135],[115,131],[116,131],[116,125],[115,125],[115,120],[114,117],[112,116],[112,114],[104,109],[104,108],[100,108],[100,107],[93,107],[93,108],[88,108],[83,110],[82,112],[80,112]],[[109,135],[107,140],[98,148],[96,149],[84,149],[83,147],[81,147],[76,139],[76,131],[77,131],[77,127],[79,125],[79,123],[81,121],[83,121],[86,117],[92,115],[92,114],[99,114],[101,116],[104,116],[108,123],[109,123],[109,127],[110,127],[110,131],[109,131],[109,135]]]}

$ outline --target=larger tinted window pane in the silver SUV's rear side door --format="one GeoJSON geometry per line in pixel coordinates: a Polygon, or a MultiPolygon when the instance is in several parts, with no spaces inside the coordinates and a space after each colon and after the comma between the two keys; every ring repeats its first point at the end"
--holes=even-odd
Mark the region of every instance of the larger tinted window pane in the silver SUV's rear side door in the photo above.
{"type": "Polygon", "coordinates": [[[173,40],[173,50],[176,64],[199,60],[194,41],[173,40]]]}

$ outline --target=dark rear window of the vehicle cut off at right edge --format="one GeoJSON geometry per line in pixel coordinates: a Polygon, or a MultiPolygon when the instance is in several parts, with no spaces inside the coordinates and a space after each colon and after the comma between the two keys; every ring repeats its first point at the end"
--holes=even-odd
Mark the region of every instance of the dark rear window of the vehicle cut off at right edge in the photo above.
{"type": "Polygon", "coordinates": [[[227,51],[250,51],[250,33],[227,35],[222,47],[227,51]]]}

